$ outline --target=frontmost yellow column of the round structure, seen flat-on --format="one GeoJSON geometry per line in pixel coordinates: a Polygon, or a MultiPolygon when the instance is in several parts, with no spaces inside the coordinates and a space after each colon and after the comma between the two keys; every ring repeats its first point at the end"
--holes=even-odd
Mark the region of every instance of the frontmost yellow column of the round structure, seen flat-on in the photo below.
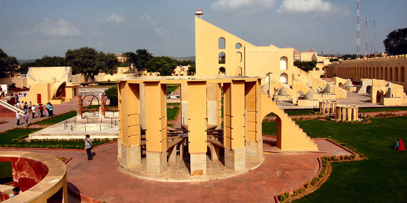
{"type": "Polygon", "coordinates": [[[188,149],[191,176],[207,173],[207,83],[188,81],[188,149]]]}

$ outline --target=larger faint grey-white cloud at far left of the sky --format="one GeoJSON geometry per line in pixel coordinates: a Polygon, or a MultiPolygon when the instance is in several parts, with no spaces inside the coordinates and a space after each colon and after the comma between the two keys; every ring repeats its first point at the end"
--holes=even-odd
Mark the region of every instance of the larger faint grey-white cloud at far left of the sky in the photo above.
{"type": "Polygon", "coordinates": [[[36,25],[32,31],[38,32],[45,37],[65,38],[80,35],[80,31],[64,19],[54,22],[46,18],[40,24],[36,25]]]}

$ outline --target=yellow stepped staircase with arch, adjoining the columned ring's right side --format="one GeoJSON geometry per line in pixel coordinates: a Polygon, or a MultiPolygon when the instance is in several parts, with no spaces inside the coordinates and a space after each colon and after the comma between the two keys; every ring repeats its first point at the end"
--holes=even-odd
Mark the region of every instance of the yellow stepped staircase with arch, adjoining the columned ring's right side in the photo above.
{"type": "Polygon", "coordinates": [[[277,147],[282,151],[318,151],[318,146],[307,136],[288,114],[265,93],[261,93],[261,118],[273,112],[281,120],[281,131],[277,130],[277,147]]]}

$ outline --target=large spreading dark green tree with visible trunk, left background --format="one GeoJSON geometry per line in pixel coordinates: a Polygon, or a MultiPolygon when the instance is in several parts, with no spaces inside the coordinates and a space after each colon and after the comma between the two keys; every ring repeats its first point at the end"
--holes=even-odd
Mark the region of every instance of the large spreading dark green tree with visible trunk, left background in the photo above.
{"type": "Polygon", "coordinates": [[[113,75],[117,70],[115,65],[118,59],[114,54],[98,52],[94,48],[68,49],[65,57],[68,64],[72,66],[73,74],[82,74],[86,82],[91,78],[92,83],[95,83],[95,76],[99,73],[113,75]]]}

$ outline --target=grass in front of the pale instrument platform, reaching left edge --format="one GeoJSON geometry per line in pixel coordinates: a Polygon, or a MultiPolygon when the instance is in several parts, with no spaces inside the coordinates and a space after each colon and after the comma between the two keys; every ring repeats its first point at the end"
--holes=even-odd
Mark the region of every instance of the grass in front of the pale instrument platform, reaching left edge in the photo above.
{"type": "MultiPolygon", "coordinates": [[[[84,148],[84,141],[81,139],[77,139],[77,142],[70,142],[70,141],[49,141],[49,142],[33,142],[33,143],[15,143],[12,139],[18,139],[21,137],[28,137],[28,134],[40,130],[39,128],[31,129],[31,128],[16,128],[13,130],[9,130],[4,133],[0,133],[0,147],[28,147],[28,148],[73,148],[73,149],[82,149],[84,148]]],[[[97,146],[108,141],[98,141],[93,142],[93,146],[97,146]]]]}

